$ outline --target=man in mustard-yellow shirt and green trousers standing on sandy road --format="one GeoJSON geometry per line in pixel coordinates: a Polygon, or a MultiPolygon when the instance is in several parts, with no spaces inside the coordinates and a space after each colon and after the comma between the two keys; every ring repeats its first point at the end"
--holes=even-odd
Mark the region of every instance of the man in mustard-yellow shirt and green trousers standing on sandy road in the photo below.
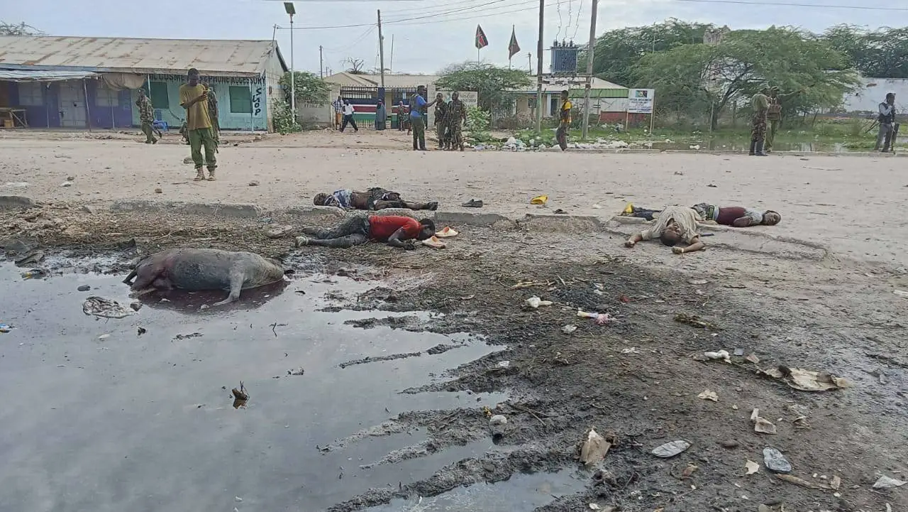
{"type": "Polygon", "coordinates": [[[214,181],[214,169],[217,160],[214,158],[214,135],[212,118],[208,112],[208,87],[199,83],[199,70],[194,67],[186,76],[188,84],[180,85],[180,105],[186,109],[186,130],[189,134],[189,146],[192,147],[192,163],[195,164],[195,181],[205,179],[202,165],[208,164],[208,181],[214,181]],[[202,160],[202,145],[205,146],[205,159],[202,160]]]}

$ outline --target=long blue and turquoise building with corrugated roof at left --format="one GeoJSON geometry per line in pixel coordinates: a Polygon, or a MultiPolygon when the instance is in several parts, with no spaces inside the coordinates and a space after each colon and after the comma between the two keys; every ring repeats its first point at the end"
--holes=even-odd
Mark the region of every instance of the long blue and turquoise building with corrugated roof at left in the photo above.
{"type": "Polygon", "coordinates": [[[137,89],[179,128],[179,87],[197,68],[214,88],[222,129],[272,129],[288,70],[273,41],[0,36],[0,126],[139,125],[137,89]]]}

